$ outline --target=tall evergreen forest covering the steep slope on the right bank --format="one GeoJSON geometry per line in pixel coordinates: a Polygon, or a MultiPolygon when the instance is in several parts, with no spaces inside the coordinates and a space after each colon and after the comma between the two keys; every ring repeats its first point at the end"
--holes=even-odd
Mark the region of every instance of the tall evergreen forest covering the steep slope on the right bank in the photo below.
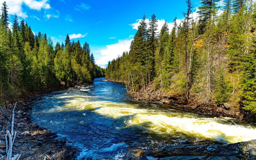
{"type": "Polygon", "coordinates": [[[256,111],[256,4],[251,0],[201,0],[198,17],[186,0],[183,20],[157,30],[156,15],[143,15],[130,52],[108,62],[106,77],[131,90],[154,84],[188,103],[233,103],[256,111]],[[218,14],[220,13],[221,14],[218,14]]]}

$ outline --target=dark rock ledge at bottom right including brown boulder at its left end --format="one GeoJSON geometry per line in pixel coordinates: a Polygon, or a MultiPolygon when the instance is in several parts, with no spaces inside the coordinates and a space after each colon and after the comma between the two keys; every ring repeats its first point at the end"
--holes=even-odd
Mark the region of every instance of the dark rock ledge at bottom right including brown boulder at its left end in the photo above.
{"type": "Polygon", "coordinates": [[[256,159],[256,140],[224,145],[212,140],[199,140],[191,144],[172,145],[146,151],[131,149],[140,160],[251,160],[256,159]]]}

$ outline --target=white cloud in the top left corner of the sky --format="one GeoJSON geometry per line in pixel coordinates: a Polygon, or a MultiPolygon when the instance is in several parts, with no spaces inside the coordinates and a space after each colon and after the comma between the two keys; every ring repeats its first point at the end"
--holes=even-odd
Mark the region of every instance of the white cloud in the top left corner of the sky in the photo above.
{"type": "MultiPolygon", "coordinates": [[[[0,0],[0,4],[2,4],[6,0],[0,0]]],[[[6,4],[9,8],[8,12],[11,15],[16,14],[18,17],[27,18],[28,15],[25,11],[22,9],[22,5],[27,5],[30,9],[40,11],[43,9],[50,9],[51,6],[48,3],[48,0],[8,0],[6,1],[6,4]]]]}

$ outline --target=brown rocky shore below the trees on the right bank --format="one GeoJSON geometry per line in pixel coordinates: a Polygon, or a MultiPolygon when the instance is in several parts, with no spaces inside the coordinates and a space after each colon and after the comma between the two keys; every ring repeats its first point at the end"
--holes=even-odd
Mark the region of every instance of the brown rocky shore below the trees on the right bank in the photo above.
{"type": "Polygon", "coordinates": [[[180,95],[175,93],[163,92],[162,90],[154,90],[152,85],[142,88],[138,91],[129,91],[129,95],[135,100],[143,101],[159,101],[172,108],[181,108],[192,110],[200,113],[207,113],[213,116],[226,116],[235,118],[241,121],[256,123],[256,115],[245,111],[239,106],[232,105],[232,103],[224,103],[224,105],[204,105],[196,99],[191,99],[188,103],[186,100],[180,99],[180,95]]]}

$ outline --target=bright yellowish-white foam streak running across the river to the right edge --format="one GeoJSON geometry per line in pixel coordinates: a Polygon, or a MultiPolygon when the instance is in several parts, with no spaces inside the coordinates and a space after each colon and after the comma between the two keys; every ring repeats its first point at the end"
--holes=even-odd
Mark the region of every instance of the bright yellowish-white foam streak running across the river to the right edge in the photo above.
{"type": "Polygon", "coordinates": [[[195,114],[175,112],[175,110],[160,111],[157,109],[140,108],[139,105],[116,103],[111,101],[91,101],[93,96],[62,95],[55,98],[67,98],[64,106],[57,106],[44,112],[59,112],[64,110],[92,110],[97,114],[124,118],[126,127],[139,127],[145,132],[159,136],[175,136],[180,133],[198,139],[211,139],[236,143],[256,139],[256,129],[250,126],[229,124],[230,118],[201,118],[195,114]],[[246,134],[245,134],[246,133],[246,134]]]}

